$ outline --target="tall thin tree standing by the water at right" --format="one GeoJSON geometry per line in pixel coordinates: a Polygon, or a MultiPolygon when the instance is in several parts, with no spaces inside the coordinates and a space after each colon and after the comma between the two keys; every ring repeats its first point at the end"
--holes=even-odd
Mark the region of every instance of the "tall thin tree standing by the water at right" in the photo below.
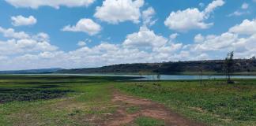
{"type": "Polygon", "coordinates": [[[224,66],[225,66],[225,74],[226,74],[226,79],[227,79],[227,83],[233,83],[233,81],[231,80],[231,75],[233,72],[233,65],[234,65],[234,52],[232,51],[231,53],[228,53],[228,56],[225,58],[224,61],[224,66]]]}

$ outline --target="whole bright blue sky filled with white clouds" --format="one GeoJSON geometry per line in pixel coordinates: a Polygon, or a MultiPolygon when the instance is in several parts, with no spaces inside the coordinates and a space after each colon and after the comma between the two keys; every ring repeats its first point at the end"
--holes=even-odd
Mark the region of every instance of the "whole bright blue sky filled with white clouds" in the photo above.
{"type": "Polygon", "coordinates": [[[2,0],[0,70],[256,55],[256,0],[2,0]]]}

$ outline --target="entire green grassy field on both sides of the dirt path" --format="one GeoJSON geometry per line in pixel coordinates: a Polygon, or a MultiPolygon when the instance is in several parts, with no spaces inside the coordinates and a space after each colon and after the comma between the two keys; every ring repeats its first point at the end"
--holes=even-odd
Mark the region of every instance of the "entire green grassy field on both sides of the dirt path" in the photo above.
{"type": "MultiPolygon", "coordinates": [[[[104,124],[117,106],[113,88],[160,102],[209,125],[256,125],[256,80],[128,81],[107,76],[0,76],[0,125],[104,124]]],[[[140,108],[130,106],[127,113],[140,108]]],[[[138,117],[130,125],[164,125],[138,117]]],[[[128,124],[129,125],[129,124],[128,124]]]]}

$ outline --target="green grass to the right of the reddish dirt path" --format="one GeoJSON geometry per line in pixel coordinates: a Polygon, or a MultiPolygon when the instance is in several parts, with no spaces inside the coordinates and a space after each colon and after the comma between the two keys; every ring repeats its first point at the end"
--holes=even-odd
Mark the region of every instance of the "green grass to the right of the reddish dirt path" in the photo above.
{"type": "Polygon", "coordinates": [[[256,80],[132,82],[116,85],[130,95],[149,98],[210,125],[256,125],[256,80]]]}

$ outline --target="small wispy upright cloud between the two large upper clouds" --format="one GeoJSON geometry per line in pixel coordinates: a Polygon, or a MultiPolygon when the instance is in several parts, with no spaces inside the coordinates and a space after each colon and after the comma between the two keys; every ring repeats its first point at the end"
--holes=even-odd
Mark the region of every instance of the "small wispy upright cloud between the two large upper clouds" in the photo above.
{"type": "Polygon", "coordinates": [[[149,7],[142,12],[142,20],[144,26],[152,26],[156,24],[156,20],[152,20],[153,16],[156,14],[155,9],[149,7]]]}

